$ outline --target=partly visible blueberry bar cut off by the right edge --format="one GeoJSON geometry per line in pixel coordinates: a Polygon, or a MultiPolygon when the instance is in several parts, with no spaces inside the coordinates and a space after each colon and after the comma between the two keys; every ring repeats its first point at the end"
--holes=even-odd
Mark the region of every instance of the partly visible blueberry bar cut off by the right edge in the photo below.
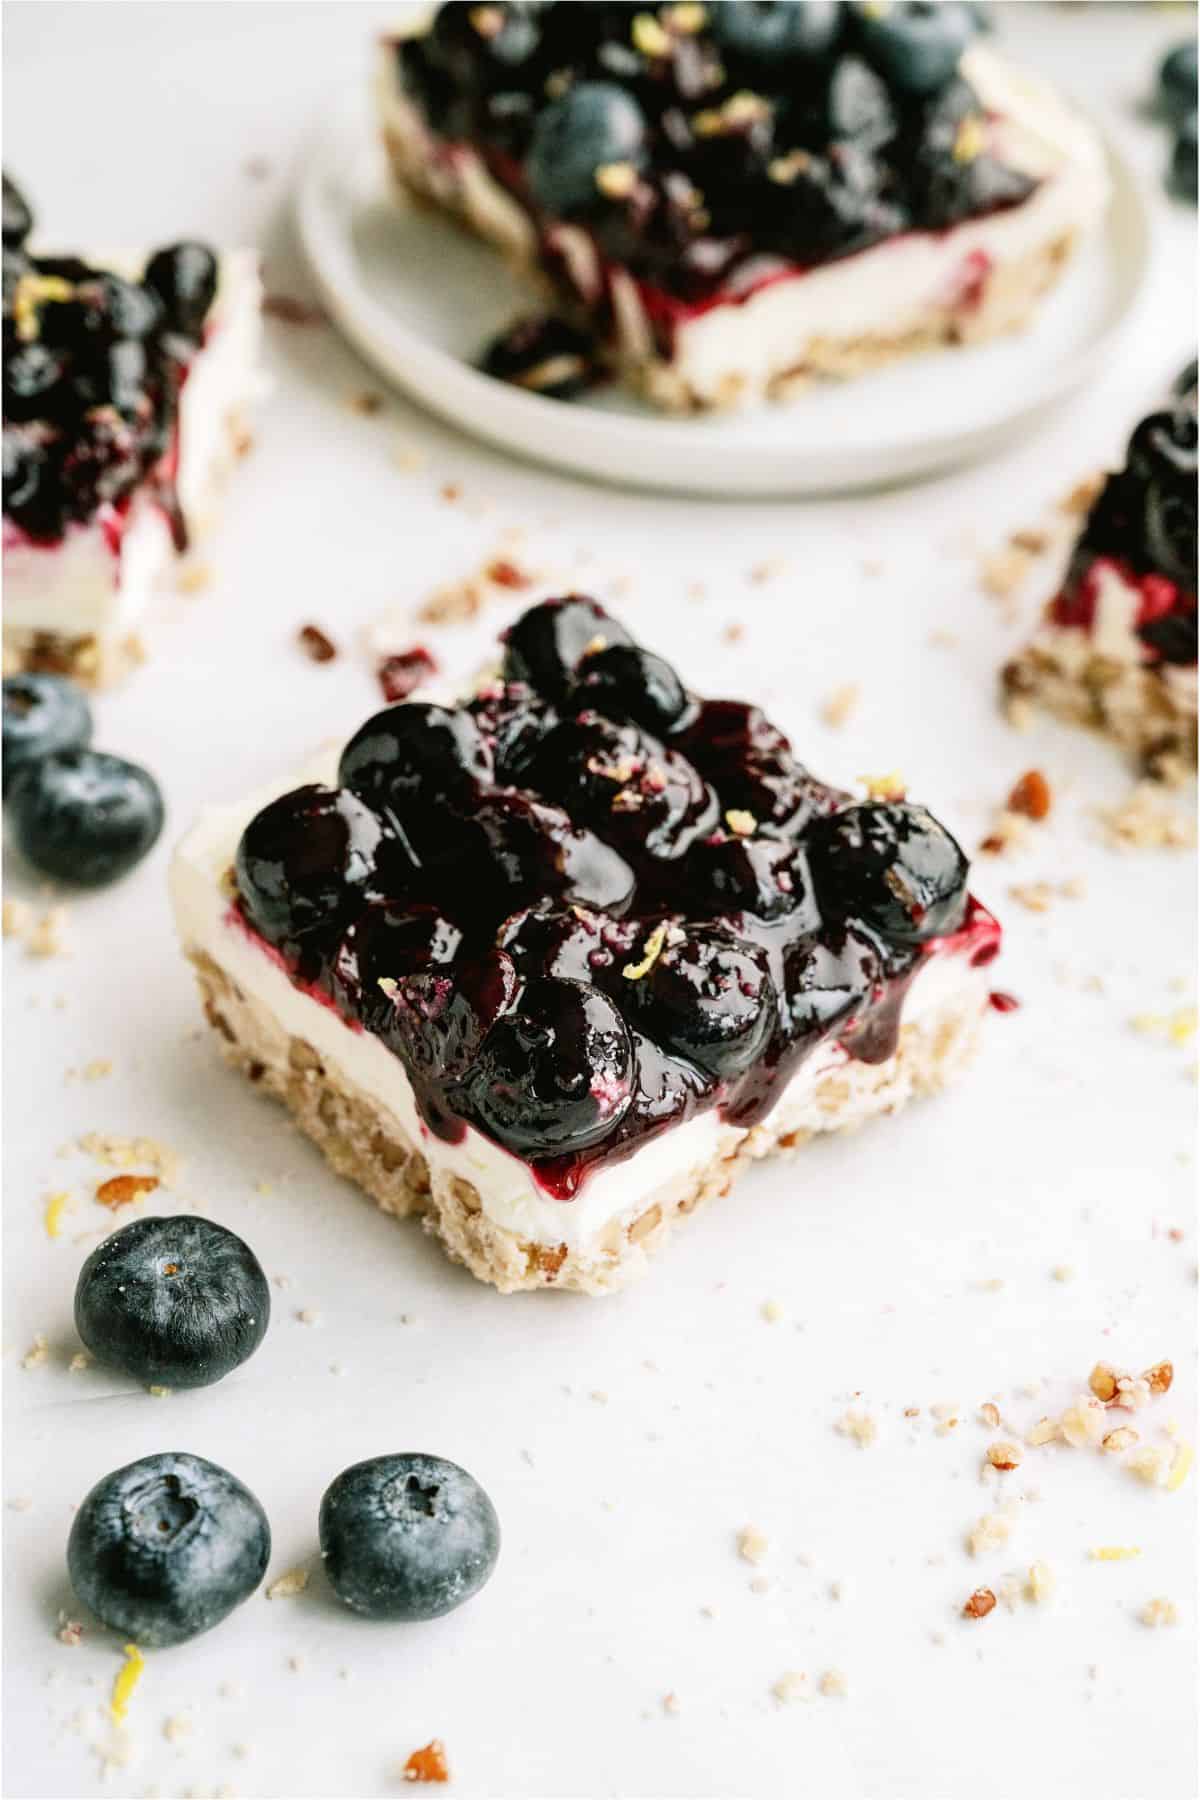
{"type": "Polygon", "coordinates": [[[1004,668],[1004,693],[1099,727],[1151,776],[1195,767],[1195,365],[1105,479],[1036,634],[1004,668]]]}

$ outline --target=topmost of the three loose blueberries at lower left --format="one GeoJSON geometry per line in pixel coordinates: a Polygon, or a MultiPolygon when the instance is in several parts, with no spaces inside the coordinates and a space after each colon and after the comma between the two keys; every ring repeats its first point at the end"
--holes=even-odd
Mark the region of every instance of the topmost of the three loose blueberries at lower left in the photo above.
{"type": "Polygon", "coordinates": [[[76,1330],[148,1388],[207,1388],[254,1355],[272,1298],[248,1244],[210,1219],[135,1219],[76,1285],[76,1330]]]}

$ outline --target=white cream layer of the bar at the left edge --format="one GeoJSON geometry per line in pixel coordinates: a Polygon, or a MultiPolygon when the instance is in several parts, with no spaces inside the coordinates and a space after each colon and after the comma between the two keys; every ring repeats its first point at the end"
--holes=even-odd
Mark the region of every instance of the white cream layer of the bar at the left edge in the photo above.
{"type": "MultiPolygon", "coordinates": [[[[104,256],[99,266],[139,274],[140,257],[104,256]]],[[[254,250],[230,250],[205,344],[180,394],[176,491],[189,531],[205,524],[212,493],[232,461],[230,421],[261,391],[257,373],[261,284],[254,250]]],[[[135,493],[124,529],[113,540],[104,517],[70,524],[58,544],[16,538],[4,545],[4,626],[56,637],[126,637],[175,560],[162,508],[135,493]]]]}

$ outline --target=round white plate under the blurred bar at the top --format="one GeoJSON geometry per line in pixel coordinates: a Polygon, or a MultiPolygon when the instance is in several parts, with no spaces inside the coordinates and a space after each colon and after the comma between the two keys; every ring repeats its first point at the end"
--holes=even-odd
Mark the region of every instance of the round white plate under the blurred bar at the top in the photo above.
{"type": "Polygon", "coordinates": [[[621,392],[563,405],[471,365],[529,288],[488,245],[396,203],[353,95],[300,171],[297,220],[333,319],[398,387],[506,450],[579,475],[709,495],[833,493],[914,479],[999,450],[1114,355],[1150,266],[1151,214],[1105,137],[1112,205],[1034,328],[900,362],[790,407],[664,418],[621,392]]]}

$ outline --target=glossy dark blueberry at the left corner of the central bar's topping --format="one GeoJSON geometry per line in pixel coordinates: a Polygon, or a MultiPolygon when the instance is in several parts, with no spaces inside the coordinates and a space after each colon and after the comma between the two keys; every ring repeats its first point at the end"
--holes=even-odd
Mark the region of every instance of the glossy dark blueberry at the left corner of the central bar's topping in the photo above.
{"type": "MultiPolygon", "coordinates": [[[[401,711],[398,707],[398,711],[401,711]]],[[[380,819],[347,788],[318,785],[281,794],[241,833],[234,873],[246,918],[277,947],[342,936],[347,914],[374,896],[387,866],[387,891],[405,886],[407,857],[380,819]]]]}

